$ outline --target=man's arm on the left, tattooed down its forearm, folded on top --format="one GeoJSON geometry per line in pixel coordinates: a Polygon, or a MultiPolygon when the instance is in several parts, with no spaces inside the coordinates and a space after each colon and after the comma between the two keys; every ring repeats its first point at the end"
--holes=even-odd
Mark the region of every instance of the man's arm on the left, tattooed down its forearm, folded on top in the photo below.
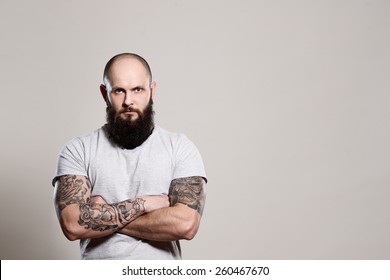
{"type": "Polygon", "coordinates": [[[109,235],[139,216],[169,205],[166,196],[141,196],[113,204],[97,201],[99,199],[91,198],[88,178],[59,177],[55,186],[55,207],[61,228],[69,240],[109,235]]]}

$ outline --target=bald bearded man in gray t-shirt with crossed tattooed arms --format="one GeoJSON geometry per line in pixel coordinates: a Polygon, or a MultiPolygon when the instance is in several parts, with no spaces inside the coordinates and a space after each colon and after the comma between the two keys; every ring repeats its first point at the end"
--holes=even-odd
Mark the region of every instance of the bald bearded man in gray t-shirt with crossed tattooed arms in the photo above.
{"type": "Polygon", "coordinates": [[[194,238],[205,203],[199,151],[154,124],[156,83],[141,56],[111,58],[100,92],[107,123],[58,158],[62,231],[80,240],[82,259],[181,259],[179,240],[194,238]]]}

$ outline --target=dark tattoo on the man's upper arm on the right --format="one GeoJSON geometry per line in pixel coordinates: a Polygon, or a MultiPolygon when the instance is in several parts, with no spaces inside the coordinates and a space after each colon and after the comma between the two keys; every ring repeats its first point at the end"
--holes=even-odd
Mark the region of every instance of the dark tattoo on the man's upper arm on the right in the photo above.
{"type": "Polygon", "coordinates": [[[202,215],[205,203],[204,179],[195,176],[172,180],[169,197],[171,206],[182,203],[202,215]]]}

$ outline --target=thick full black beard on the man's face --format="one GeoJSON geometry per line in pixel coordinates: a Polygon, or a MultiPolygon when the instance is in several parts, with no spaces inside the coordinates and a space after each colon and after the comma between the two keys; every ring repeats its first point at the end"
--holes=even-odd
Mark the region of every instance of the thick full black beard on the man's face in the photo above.
{"type": "Polygon", "coordinates": [[[121,148],[134,149],[152,134],[154,128],[153,100],[150,99],[143,112],[137,112],[138,118],[134,121],[131,117],[121,118],[112,106],[107,107],[106,131],[110,140],[121,148]]]}

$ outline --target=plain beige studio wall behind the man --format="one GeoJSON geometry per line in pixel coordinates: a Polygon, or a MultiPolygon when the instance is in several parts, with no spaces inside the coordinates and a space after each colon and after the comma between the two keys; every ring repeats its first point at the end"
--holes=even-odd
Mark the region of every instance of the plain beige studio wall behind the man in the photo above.
{"type": "Polygon", "coordinates": [[[136,52],[209,177],[185,259],[390,258],[390,1],[0,0],[1,259],[77,259],[50,185],[136,52]]]}

